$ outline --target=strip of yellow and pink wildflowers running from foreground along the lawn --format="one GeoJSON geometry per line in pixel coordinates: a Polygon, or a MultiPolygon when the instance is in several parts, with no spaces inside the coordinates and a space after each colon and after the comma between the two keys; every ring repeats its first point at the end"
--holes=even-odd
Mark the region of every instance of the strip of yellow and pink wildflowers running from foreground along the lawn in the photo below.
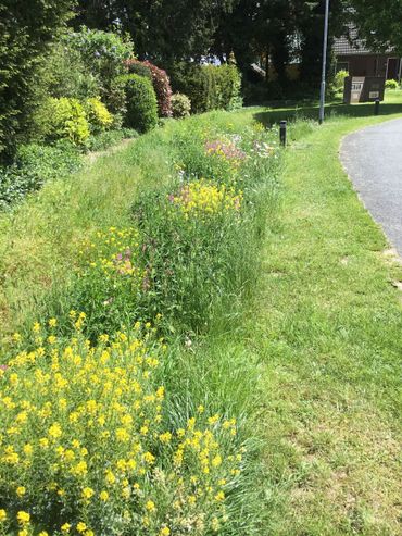
{"type": "Polygon", "coordinates": [[[242,424],[218,397],[199,403],[172,382],[171,347],[253,286],[278,149],[260,125],[213,125],[138,140],[133,165],[163,142],[169,176],[141,184],[130,226],[75,245],[63,299],[49,295],[41,321],[11,337],[5,534],[248,534],[242,424]]]}

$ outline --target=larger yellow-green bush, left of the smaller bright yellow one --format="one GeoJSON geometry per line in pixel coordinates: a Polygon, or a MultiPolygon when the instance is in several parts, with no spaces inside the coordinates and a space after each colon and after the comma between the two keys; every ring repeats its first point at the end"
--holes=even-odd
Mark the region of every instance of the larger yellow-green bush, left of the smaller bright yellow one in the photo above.
{"type": "Polygon", "coordinates": [[[51,98],[49,100],[50,137],[67,138],[75,145],[84,145],[89,137],[89,124],[83,105],[77,99],[51,98]]]}

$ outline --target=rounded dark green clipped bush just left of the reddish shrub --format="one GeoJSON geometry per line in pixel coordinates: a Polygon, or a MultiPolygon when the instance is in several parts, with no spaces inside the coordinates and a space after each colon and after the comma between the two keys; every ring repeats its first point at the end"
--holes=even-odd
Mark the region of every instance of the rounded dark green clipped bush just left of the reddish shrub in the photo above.
{"type": "Polygon", "coordinates": [[[152,83],[137,74],[123,75],[126,94],[127,126],[145,133],[158,124],[158,103],[152,83]]]}

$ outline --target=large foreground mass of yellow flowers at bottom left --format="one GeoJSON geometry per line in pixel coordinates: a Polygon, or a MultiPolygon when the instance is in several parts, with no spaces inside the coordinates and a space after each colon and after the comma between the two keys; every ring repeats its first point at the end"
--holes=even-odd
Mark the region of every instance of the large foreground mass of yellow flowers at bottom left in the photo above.
{"type": "Polygon", "coordinates": [[[164,348],[139,333],[93,347],[77,328],[0,367],[0,534],[201,535],[225,522],[236,422],[199,407],[172,428],[164,348]]]}

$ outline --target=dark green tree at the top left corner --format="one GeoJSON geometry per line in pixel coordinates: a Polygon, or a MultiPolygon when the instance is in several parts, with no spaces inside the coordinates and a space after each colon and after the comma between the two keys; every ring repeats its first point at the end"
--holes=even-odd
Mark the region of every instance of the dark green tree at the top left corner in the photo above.
{"type": "Polygon", "coordinates": [[[13,152],[34,103],[37,66],[73,0],[0,0],[0,157],[13,152]]]}

